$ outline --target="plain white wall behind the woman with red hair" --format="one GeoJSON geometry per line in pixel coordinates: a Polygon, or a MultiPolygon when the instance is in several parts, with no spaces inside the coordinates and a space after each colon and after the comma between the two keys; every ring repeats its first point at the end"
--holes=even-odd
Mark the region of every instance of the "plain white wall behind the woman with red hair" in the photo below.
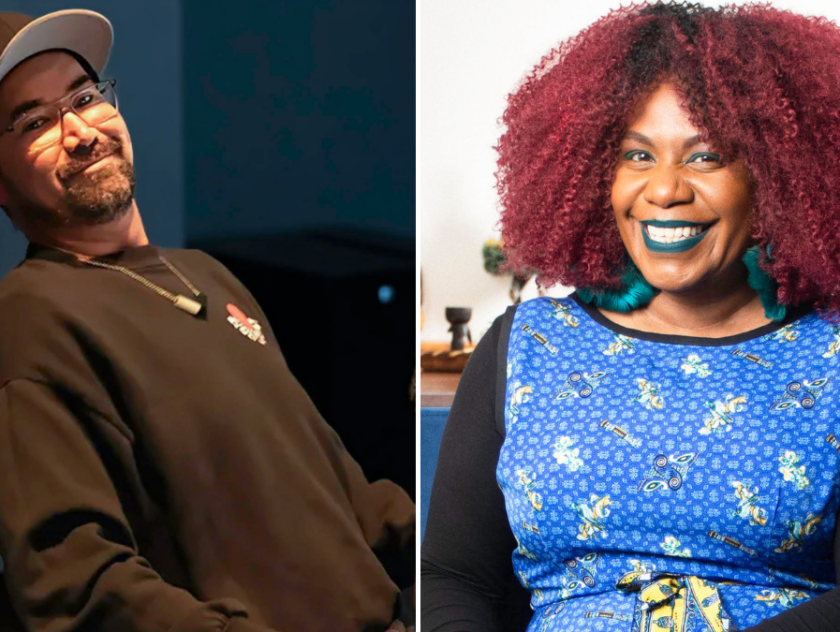
{"type": "MultiPolygon", "coordinates": [[[[443,315],[447,306],[473,308],[470,324],[477,339],[509,304],[509,277],[489,275],[481,259],[484,241],[498,236],[492,148],[501,135],[498,119],[505,97],[543,54],[620,4],[421,0],[417,165],[422,340],[449,339],[443,315]]],[[[840,3],[773,4],[840,20],[840,3]]],[[[551,293],[567,291],[555,288],[551,293]]]]}

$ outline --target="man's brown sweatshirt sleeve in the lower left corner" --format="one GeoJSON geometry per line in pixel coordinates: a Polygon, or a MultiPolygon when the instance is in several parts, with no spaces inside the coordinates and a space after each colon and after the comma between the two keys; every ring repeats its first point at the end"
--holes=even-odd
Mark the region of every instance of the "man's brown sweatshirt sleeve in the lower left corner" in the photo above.
{"type": "Polygon", "coordinates": [[[88,414],[47,384],[0,389],[0,554],[26,628],[270,632],[238,601],[198,601],[139,555],[88,414]]]}

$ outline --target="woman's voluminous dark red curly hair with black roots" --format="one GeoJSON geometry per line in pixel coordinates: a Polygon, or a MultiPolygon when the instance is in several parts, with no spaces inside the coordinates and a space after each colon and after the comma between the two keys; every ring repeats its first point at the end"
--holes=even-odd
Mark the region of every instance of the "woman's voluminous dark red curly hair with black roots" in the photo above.
{"type": "Polygon", "coordinates": [[[611,12],[543,57],[508,97],[497,188],[511,267],[617,288],[610,204],[621,137],[663,81],[752,176],[751,234],[782,305],[840,308],[840,29],[769,5],[669,2],[611,12]]]}

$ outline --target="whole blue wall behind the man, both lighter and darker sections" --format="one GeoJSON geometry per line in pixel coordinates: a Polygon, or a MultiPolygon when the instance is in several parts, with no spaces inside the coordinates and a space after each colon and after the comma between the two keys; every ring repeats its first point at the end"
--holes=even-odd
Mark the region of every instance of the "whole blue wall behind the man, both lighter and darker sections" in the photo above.
{"type": "MultiPolygon", "coordinates": [[[[152,242],[349,225],[414,238],[413,2],[7,0],[106,15],[152,242]]],[[[0,214],[0,276],[25,242],[0,214]]]]}

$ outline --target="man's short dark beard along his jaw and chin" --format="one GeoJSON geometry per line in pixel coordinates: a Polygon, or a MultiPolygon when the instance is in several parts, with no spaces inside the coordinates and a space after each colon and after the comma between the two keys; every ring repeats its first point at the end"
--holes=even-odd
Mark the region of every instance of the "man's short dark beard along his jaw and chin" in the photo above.
{"type": "Polygon", "coordinates": [[[64,185],[64,208],[57,210],[27,199],[12,183],[6,186],[26,221],[52,228],[94,226],[119,219],[131,210],[136,180],[134,166],[122,155],[122,143],[108,139],[94,146],[88,156],[77,156],[56,174],[64,185]],[[110,163],[90,174],[86,164],[111,156],[110,163]]]}

